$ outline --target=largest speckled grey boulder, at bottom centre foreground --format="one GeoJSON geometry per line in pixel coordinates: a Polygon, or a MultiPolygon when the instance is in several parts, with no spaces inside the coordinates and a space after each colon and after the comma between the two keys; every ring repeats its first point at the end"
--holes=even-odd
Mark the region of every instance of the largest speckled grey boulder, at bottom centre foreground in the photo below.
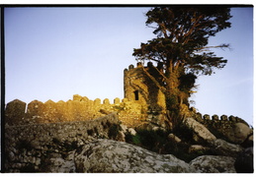
{"type": "Polygon", "coordinates": [[[194,167],[172,154],[158,154],[111,140],[97,140],[77,149],[74,161],[76,172],[197,172],[194,167]]]}

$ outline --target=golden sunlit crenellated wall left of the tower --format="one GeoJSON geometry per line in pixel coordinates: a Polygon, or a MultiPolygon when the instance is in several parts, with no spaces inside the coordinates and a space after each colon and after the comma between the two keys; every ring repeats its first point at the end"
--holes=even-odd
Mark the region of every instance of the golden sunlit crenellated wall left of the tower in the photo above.
{"type": "Polygon", "coordinates": [[[132,127],[138,125],[145,117],[143,107],[135,101],[116,98],[111,104],[106,98],[101,103],[101,99],[90,100],[86,96],[73,95],[73,100],[66,102],[60,100],[53,102],[48,100],[41,102],[34,100],[27,103],[15,99],[9,102],[5,108],[6,126],[86,121],[104,116],[111,112],[118,112],[120,120],[132,127]]]}

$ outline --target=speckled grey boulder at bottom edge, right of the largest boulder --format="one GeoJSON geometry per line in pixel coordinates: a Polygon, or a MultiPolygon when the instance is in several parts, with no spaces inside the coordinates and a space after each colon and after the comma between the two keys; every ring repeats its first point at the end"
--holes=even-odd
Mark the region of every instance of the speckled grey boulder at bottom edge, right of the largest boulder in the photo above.
{"type": "Polygon", "coordinates": [[[190,165],[201,173],[235,173],[234,157],[203,155],[193,159],[190,165]]]}

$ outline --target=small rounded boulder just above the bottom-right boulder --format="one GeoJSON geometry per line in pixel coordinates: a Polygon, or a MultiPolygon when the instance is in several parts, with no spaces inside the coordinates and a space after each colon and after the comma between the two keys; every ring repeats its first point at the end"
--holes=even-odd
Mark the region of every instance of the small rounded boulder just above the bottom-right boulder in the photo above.
{"type": "Polygon", "coordinates": [[[218,155],[233,157],[236,157],[243,150],[241,146],[227,143],[221,139],[214,140],[210,147],[212,148],[213,152],[218,155]]]}

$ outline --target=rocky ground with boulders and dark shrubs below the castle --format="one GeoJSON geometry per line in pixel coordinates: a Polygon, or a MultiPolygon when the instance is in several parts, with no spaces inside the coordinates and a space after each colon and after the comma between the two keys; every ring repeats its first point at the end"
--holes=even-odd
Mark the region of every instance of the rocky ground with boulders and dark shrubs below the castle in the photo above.
{"type": "MultiPolygon", "coordinates": [[[[189,132],[168,133],[165,130],[159,131],[160,128],[157,127],[150,131],[139,131],[122,124],[115,124],[110,126],[108,137],[104,139],[89,136],[83,144],[65,148],[65,151],[58,149],[49,151],[47,158],[43,155],[39,159],[31,158],[35,160],[33,164],[38,165],[37,169],[34,166],[27,166],[14,172],[253,172],[253,137],[249,127],[248,130],[243,131],[247,132],[247,135],[239,134],[239,140],[243,139],[242,143],[232,144],[216,138],[195,119],[185,119],[182,126],[181,131],[189,130],[189,132]],[[145,135],[149,135],[151,140],[145,139],[145,135]],[[157,137],[159,135],[163,136],[162,140],[157,137]],[[187,137],[190,139],[189,142],[186,142],[186,136],[189,136],[187,137]]],[[[242,128],[245,129],[244,126],[242,128]]],[[[63,145],[61,142],[57,144],[63,145]]],[[[13,166],[15,165],[22,166],[23,162],[15,163],[13,166]]]]}

